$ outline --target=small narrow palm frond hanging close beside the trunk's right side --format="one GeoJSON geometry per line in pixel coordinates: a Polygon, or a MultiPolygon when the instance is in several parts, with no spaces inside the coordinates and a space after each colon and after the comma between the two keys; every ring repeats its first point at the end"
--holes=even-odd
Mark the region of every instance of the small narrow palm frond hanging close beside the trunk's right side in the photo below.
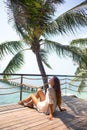
{"type": "Polygon", "coordinates": [[[40,56],[41,56],[42,62],[43,62],[48,68],[52,69],[51,66],[48,64],[47,52],[46,52],[44,49],[41,49],[41,50],[40,50],[40,56]]]}

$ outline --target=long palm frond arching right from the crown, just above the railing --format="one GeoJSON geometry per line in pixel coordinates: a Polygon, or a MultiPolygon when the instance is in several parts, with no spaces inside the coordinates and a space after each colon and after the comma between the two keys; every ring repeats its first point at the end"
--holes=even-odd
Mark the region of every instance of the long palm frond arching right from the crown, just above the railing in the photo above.
{"type": "Polygon", "coordinates": [[[59,56],[69,56],[72,57],[74,61],[85,62],[83,56],[81,55],[82,51],[78,47],[62,45],[60,43],[45,40],[45,47],[47,50],[55,51],[59,56]]]}

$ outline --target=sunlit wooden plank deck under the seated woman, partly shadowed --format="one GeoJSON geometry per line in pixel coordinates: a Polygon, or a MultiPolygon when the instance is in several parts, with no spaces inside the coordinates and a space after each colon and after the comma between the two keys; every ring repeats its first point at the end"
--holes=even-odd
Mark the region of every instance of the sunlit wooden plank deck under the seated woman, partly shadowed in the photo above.
{"type": "Polygon", "coordinates": [[[87,130],[87,101],[63,97],[67,111],[54,113],[49,121],[43,113],[18,104],[0,107],[0,130],[87,130]]]}

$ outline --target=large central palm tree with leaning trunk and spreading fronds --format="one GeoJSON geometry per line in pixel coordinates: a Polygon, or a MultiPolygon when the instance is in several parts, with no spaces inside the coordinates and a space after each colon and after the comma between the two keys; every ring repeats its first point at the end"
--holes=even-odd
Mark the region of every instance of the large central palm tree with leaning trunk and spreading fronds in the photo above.
{"type": "Polygon", "coordinates": [[[56,7],[63,2],[64,0],[7,0],[9,20],[14,21],[14,27],[22,36],[23,42],[16,42],[16,45],[20,46],[17,49],[14,41],[10,42],[11,46],[9,42],[0,45],[3,46],[1,48],[2,56],[4,52],[9,51],[13,54],[11,48],[15,54],[3,73],[13,73],[16,68],[23,64],[22,54],[24,50],[32,50],[36,55],[44,84],[47,83],[47,77],[43,62],[50,67],[47,63],[46,52],[56,51],[58,55],[68,55],[76,60],[83,59],[83,57],[79,57],[80,51],[77,52],[77,48],[48,39],[48,36],[74,32],[79,26],[87,25],[87,1],[55,18],[56,7]],[[26,46],[23,47],[20,43],[26,44],[26,46]]]}

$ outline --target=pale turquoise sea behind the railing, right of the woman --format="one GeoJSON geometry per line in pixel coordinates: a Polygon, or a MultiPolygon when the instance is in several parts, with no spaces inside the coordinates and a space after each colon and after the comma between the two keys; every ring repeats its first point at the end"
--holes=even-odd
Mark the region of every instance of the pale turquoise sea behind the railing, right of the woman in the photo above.
{"type": "Polygon", "coordinates": [[[73,78],[71,77],[71,78],[65,78],[65,80],[63,81],[60,80],[61,86],[62,86],[61,88],[65,88],[64,90],[62,90],[63,95],[75,95],[78,98],[87,100],[87,86],[85,86],[81,92],[78,92],[78,88],[81,83],[81,80],[72,82],[72,79],[73,78]],[[62,85],[62,83],[65,83],[65,84],[62,85]]]}

